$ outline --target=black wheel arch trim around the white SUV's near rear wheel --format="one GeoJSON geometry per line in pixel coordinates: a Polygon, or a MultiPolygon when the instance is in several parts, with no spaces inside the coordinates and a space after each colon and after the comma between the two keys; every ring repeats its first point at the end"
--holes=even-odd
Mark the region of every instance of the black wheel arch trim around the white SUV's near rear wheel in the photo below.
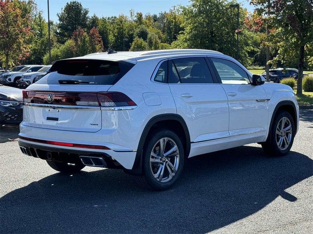
{"type": "Polygon", "coordinates": [[[146,141],[146,137],[148,136],[148,134],[153,129],[155,129],[156,126],[160,126],[160,125],[163,127],[172,126],[169,129],[172,128],[173,131],[175,131],[177,134],[179,134],[179,133],[184,134],[184,136],[179,135],[179,137],[183,141],[185,157],[188,157],[188,155],[190,153],[190,135],[189,135],[189,130],[187,128],[187,124],[186,124],[185,120],[182,118],[182,116],[177,115],[177,114],[156,115],[148,121],[144,130],[142,131],[142,134],[141,134],[141,137],[139,140],[139,144],[137,147],[137,153],[136,153],[134,165],[133,165],[132,169],[130,169],[130,170],[125,169],[124,171],[126,173],[136,174],[136,175],[141,174],[141,172],[142,172],[142,150],[143,150],[143,147],[144,147],[144,144],[146,141]],[[176,123],[176,125],[174,123],[176,123]],[[177,124],[179,124],[181,126],[181,129],[178,129],[178,131],[176,129],[174,130],[175,127],[179,126],[177,124]]]}

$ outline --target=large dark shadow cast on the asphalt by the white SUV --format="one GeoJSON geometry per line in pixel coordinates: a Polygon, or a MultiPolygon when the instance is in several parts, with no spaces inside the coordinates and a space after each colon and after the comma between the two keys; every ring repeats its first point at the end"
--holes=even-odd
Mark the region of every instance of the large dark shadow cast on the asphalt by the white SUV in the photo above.
{"type": "Polygon", "coordinates": [[[176,186],[147,191],[121,170],[55,173],[0,200],[2,233],[205,233],[247,217],[312,176],[312,160],[241,146],[185,161],[176,186]]]}

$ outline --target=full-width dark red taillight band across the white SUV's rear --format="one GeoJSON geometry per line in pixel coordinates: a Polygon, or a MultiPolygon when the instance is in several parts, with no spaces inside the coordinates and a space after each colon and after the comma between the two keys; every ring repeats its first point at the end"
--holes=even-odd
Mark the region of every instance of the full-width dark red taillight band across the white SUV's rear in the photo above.
{"type": "Polygon", "coordinates": [[[51,105],[106,107],[136,105],[133,100],[121,92],[59,92],[23,90],[23,102],[51,105]]]}

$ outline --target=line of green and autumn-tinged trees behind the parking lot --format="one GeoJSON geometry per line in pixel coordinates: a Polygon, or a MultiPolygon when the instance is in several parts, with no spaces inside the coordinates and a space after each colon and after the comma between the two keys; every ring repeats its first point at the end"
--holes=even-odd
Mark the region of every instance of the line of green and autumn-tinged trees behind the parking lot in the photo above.
{"type": "MultiPolygon", "coordinates": [[[[159,14],[130,10],[129,16],[99,17],[89,16],[88,8],[71,1],[57,14],[58,22],[50,21],[52,61],[108,48],[198,48],[236,57],[239,32],[239,61],[245,66],[265,66],[269,45],[271,66],[298,67],[300,62],[313,69],[312,0],[251,0],[256,10],[251,13],[240,6],[239,28],[237,9],[231,4],[240,3],[192,0],[159,14]]],[[[0,7],[3,65],[48,64],[48,22],[34,0],[0,0],[0,7]]]]}

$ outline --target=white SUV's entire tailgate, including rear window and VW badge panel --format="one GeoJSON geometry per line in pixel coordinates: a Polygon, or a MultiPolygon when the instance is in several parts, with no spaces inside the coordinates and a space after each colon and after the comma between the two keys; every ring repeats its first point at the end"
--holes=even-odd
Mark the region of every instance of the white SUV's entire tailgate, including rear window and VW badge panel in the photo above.
{"type": "Polygon", "coordinates": [[[65,131],[99,131],[102,124],[100,108],[104,103],[99,100],[99,93],[103,95],[133,66],[105,60],[57,61],[47,75],[23,90],[23,125],[65,131]]]}

